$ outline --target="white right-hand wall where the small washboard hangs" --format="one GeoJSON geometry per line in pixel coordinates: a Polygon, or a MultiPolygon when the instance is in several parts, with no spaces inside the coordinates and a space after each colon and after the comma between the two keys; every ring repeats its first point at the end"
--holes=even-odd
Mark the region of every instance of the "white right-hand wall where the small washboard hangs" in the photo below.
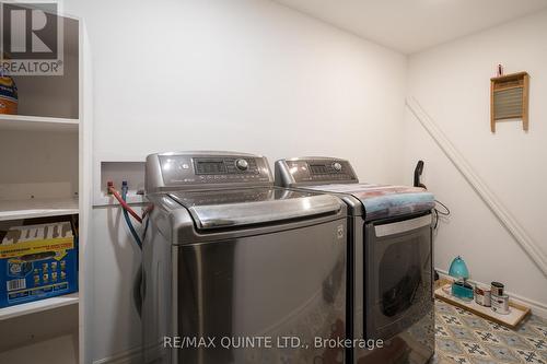
{"type": "MultiPolygon", "coordinates": [[[[547,251],[547,11],[491,28],[409,58],[409,91],[447,134],[477,174],[529,235],[547,251]],[[529,131],[522,122],[497,124],[490,132],[490,78],[531,74],[529,131]]],[[[409,113],[405,116],[405,172],[426,162],[424,184],[452,210],[435,243],[435,266],[447,270],[462,255],[472,278],[504,282],[547,313],[547,279],[409,113]]],[[[406,180],[410,183],[408,178],[406,180]]]]}

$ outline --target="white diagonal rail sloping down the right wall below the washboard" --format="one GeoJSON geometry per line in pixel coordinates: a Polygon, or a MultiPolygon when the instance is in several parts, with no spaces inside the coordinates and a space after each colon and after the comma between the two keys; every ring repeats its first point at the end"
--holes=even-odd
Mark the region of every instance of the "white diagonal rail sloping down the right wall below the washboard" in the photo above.
{"type": "Polygon", "coordinates": [[[498,220],[505,226],[508,232],[519,243],[521,248],[526,251],[528,257],[536,263],[537,268],[547,277],[547,255],[536,244],[536,242],[526,233],[511,213],[501,204],[499,198],[488,188],[486,183],[475,173],[469,163],[464,158],[459,151],[452,144],[446,134],[439,128],[433,119],[426,113],[418,101],[411,96],[407,97],[406,105],[414,116],[420,121],[422,127],[433,138],[435,143],[452,161],[454,166],[465,177],[467,183],[475,189],[479,197],[485,201],[488,208],[493,212],[498,220]]]}

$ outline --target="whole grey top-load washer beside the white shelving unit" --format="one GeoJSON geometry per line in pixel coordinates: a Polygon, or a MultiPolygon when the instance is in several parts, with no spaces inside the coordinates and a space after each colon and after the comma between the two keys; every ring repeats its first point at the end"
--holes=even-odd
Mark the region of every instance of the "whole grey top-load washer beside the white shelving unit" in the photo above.
{"type": "Polygon", "coordinates": [[[340,363],[346,206],[274,187],[265,157],[147,158],[146,363],[340,363]],[[291,348],[294,345],[295,348],[291,348]]]}

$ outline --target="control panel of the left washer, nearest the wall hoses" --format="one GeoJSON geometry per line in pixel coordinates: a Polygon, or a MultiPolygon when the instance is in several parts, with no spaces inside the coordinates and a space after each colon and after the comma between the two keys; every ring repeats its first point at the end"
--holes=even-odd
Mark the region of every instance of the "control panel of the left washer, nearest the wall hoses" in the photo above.
{"type": "Polygon", "coordinates": [[[268,161],[228,152],[158,153],[147,157],[147,192],[272,185],[268,161]]]}

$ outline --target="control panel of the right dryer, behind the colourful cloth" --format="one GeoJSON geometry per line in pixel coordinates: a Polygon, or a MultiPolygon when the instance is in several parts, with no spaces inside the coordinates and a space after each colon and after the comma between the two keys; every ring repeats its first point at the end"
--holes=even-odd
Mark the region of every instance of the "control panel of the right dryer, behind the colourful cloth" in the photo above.
{"type": "Polygon", "coordinates": [[[359,179],[346,160],[331,157],[299,157],[276,162],[276,185],[357,184],[359,179]]]}

